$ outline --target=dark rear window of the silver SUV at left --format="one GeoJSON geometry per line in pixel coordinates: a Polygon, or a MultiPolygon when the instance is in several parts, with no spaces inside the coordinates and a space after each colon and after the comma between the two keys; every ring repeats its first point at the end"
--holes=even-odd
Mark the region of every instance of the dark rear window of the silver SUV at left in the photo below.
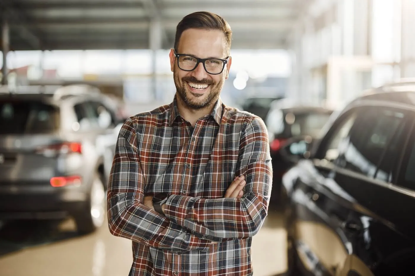
{"type": "Polygon", "coordinates": [[[0,134],[50,133],[59,127],[59,109],[41,101],[0,100],[0,134]]]}

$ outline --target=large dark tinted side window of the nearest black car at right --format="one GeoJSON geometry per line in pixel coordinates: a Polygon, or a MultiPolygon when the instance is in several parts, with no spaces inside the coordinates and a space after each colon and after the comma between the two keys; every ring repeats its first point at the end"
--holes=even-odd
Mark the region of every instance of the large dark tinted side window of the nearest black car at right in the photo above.
{"type": "Polygon", "coordinates": [[[337,165],[391,182],[405,119],[405,113],[391,108],[364,110],[345,139],[337,165]]]}

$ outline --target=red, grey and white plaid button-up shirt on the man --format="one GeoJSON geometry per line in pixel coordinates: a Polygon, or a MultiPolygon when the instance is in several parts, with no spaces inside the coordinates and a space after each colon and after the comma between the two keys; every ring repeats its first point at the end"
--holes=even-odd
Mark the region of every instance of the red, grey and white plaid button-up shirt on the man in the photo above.
{"type": "Polygon", "coordinates": [[[113,235],[132,240],[130,276],[252,275],[251,237],[267,215],[272,168],[264,122],[219,99],[195,127],[173,103],[130,117],[107,194],[113,235]],[[235,176],[241,199],[224,198],[235,176]],[[165,216],[144,206],[167,192],[165,216]]]}

